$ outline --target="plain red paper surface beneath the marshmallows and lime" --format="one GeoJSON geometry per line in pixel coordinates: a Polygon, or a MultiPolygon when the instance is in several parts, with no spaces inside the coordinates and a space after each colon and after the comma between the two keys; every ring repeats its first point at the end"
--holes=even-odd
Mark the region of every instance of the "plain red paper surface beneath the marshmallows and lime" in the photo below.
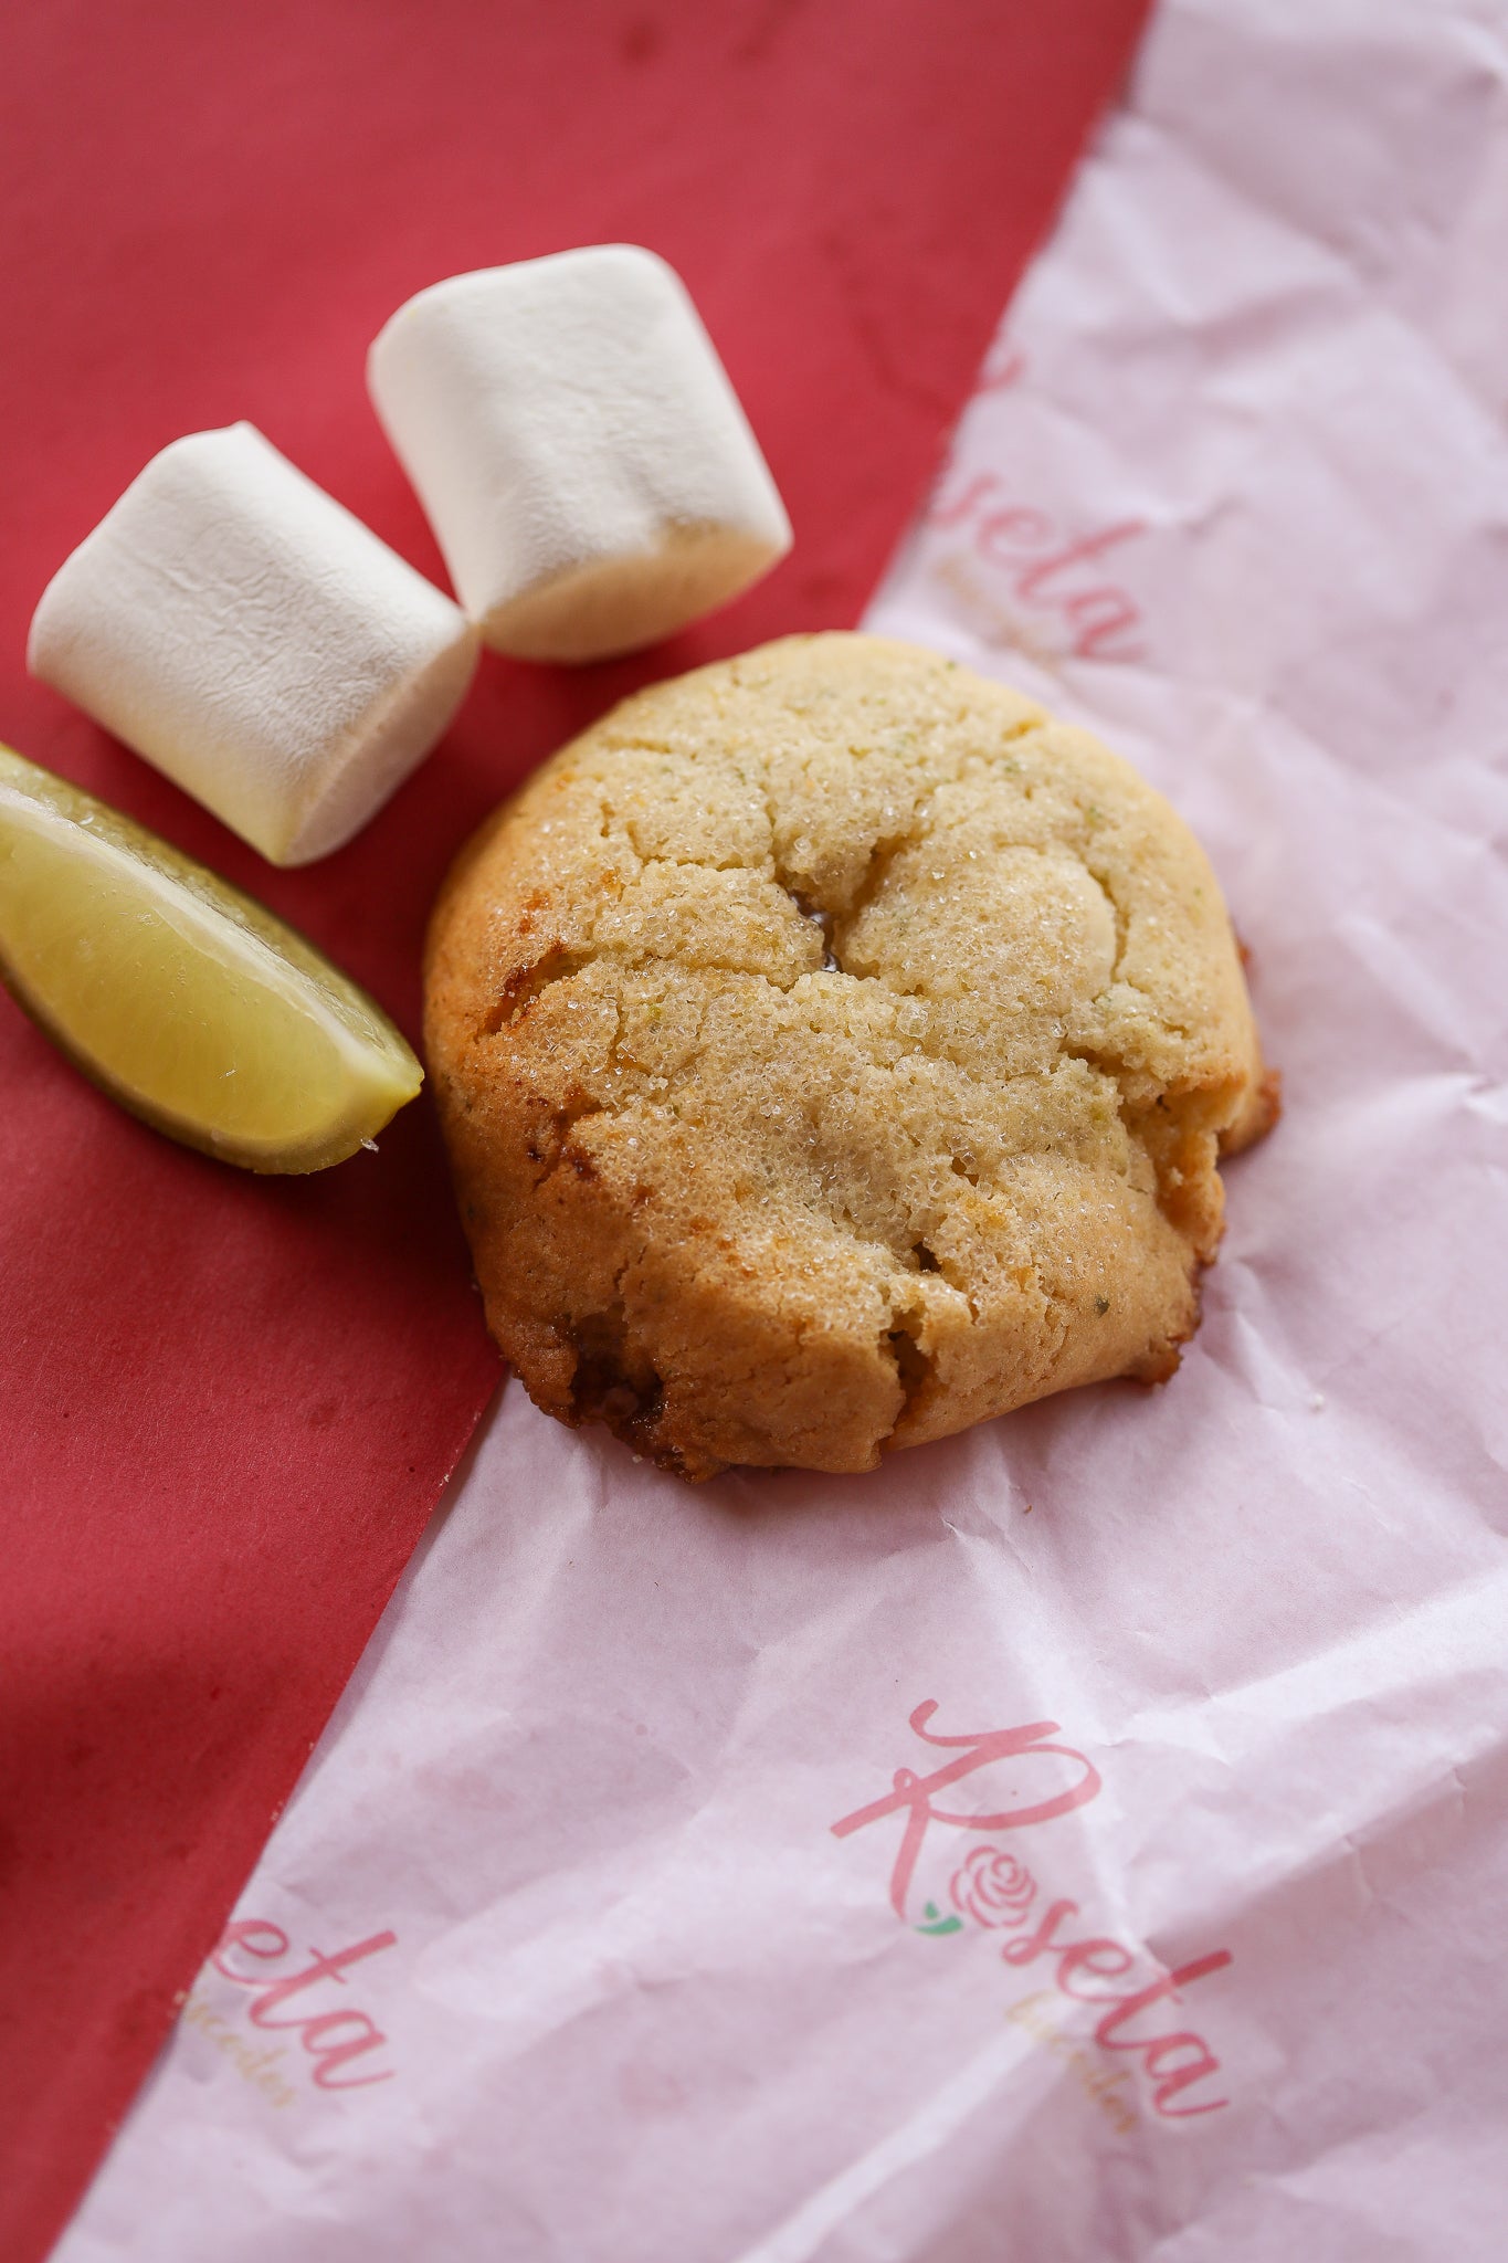
{"type": "MultiPolygon", "coordinates": [[[[1144,0],[50,0],[0,34],[0,735],[332,950],[405,1023],[441,871],[629,681],[852,625],[1144,0]],[[796,523],[649,661],[484,663],[362,840],[274,874],[25,677],[43,582],[249,416],[421,568],[362,358],[416,287],[577,242],[687,278],[796,523]]],[[[427,1104],[258,1181],[0,998],[0,2254],[145,2075],[497,1365],[427,1104]]],[[[549,1514],[549,1503],[540,1503],[549,1514]]]]}

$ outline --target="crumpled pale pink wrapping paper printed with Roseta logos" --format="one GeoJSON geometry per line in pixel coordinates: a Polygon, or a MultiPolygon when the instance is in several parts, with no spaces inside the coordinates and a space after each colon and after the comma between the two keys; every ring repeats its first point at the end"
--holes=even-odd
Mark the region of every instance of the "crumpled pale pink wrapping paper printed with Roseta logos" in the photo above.
{"type": "Polygon", "coordinates": [[[1169,0],[870,613],[1223,876],[1180,1374],[696,1491],[509,1383],[63,2263],[1501,2258],[1503,147],[1472,0],[1169,0]]]}

